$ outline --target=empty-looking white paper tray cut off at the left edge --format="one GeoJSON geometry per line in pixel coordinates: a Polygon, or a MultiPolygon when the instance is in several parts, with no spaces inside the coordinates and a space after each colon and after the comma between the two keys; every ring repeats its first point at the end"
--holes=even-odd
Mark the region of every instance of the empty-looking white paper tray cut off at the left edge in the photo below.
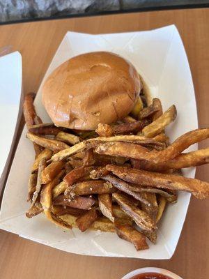
{"type": "Polygon", "coordinates": [[[13,52],[0,57],[0,177],[13,142],[22,88],[22,57],[13,52]]]}

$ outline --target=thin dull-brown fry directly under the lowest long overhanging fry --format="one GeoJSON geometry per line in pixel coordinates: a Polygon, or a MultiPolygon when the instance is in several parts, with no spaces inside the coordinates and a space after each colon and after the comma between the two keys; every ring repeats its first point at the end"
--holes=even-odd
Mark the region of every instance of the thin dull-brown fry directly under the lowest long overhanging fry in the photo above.
{"type": "Polygon", "coordinates": [[[112,185],[114,185],[115,188],[121,190],[127,195],[134,197],[134,199],[139,200],[141,203],[147,204],[147,206],[151,205],[150,201],[145,197],[144,193],[136,193],[130,190],[129,184],[121,179],[118,179],[116,176],[107,174],[106,176],[103,176],[102,179],[109,181],[112,185]]]}

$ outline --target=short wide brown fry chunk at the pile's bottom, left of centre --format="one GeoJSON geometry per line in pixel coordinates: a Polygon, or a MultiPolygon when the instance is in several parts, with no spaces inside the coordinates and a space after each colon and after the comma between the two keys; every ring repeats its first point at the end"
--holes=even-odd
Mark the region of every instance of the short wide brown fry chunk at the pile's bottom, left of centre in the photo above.
{"type": "Polygon", "coordinates": [[[84,213],[82,216],[79,216],[76,219],[77,227],[82,231],[85,232],[86,229],[91,227],[91,225],[94,223],[94,221],[98,218],[98,212],[96,209],[90,209],[86,213],[84,213]]]}

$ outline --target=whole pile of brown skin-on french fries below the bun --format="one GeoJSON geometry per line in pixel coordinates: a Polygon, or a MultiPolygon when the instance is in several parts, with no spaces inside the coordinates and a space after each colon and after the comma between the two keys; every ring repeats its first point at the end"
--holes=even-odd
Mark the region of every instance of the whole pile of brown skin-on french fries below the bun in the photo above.
{"type": "Polygon", "coordinates": [[[192,130],[172,144],[164,128],[176,119],[172,105],[139,97],[130,115],[100,123],[95,131],[69,130],[42,123],[24,99],[24,117],[36,158],[29,177],[26,216],[39,213],[63,229],[116,232],[137,250],[157,241],[157,225],[178,190],[209,197],[209,183],[181,176],[180,169],[208,163],[209,149],[183,153],[209,137],[209,128],[192,130]],[[144,102],[145,103],[145,102],[144,102]]]}

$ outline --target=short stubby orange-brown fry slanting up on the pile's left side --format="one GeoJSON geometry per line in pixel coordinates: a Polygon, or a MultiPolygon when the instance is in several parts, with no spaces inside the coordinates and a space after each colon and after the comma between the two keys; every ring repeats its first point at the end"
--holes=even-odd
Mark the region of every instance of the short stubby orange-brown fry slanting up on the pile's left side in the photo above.
{"type": "Polygon", "coordinates": [[[59,161],[59,162],[52,162],[47,167],[45,167],[45,169],[43,169],[41,173],[41,178],[40,178],[41,183],[47,184],[50,181],[52,181],[52,179],[54,179],[54,177],[57,174],[59,174],[59,172],[61,172],[61,169],[63,169],[64,165],[65,165],[64,162],[59,161]]]}

